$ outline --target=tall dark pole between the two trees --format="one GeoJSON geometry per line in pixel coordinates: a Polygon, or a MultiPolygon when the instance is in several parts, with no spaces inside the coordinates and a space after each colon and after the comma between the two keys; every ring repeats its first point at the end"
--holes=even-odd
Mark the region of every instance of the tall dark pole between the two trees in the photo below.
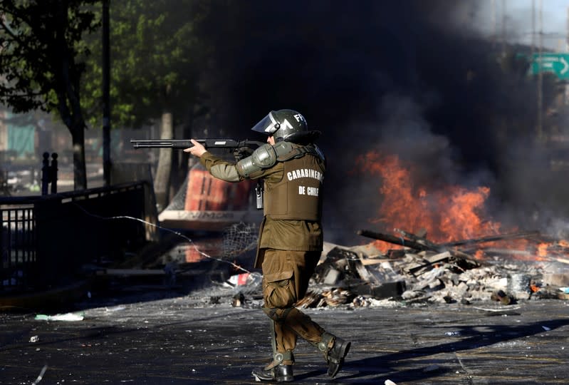
{"type": "Polygon", "coordinates": [[[110,41],[109,1],[103,0],[103,180],[110,186],[110,41]]]}

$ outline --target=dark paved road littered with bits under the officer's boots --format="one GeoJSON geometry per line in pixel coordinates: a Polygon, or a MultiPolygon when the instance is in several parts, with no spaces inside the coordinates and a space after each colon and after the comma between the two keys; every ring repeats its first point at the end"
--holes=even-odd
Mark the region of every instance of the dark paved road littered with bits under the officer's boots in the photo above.
{"type": "MultiPolygon", "coordinates": [[[[227,294],[216,296],[219,304],[207,292],[170,294],[83,303],[84,319],[75,322],[0,314],[0,384],[33,384],[42,369],[42,385],[253,384],[251,370],[271,355],[259,302],[233,307],[227,294]]],[[[391,304],[307,309],[353,347],[343,371],[329,379],[322,357],[300,341],[296,383],[569,381],[568,301],[391,304]]]]}

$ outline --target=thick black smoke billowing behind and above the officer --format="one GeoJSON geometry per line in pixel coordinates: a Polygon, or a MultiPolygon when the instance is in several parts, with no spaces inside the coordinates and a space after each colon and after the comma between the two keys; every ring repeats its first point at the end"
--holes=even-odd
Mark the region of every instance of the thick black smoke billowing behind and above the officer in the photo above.
{"type": "Polygon", "coordinates": [[[330,242],[383,230],[370,220],[386,181],[356,167],[371,150],[413,163],[433,188],[489,186],[493,220],[545,230],[543,213],[567,212],[566,188],[535,144],[536,84],[516,56],[528,47],[503,51],[475,32],[479,4],[211,2],[199,30],[212,51],[202,82],[209,123],[253,138],[268,111],[292,108],[321,130],[330,242]]]}

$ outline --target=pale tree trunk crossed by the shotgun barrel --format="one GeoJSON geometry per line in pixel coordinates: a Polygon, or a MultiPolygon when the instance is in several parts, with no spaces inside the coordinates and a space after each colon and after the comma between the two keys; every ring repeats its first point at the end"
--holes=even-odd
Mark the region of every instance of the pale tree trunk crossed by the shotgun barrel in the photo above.
{"type": "MultiPolygon", "coordinates": [[[[172,113],[162,113],[162,123],[160,124],[160,139],[174,138],[174,125],[172,124],[172,113]]],[[[166,208],[169,203],[170,172],[172,170],[172,149],[160,148],[158,156],[158,166],[154,179],[154,192],[156,195],[156,205],[158,212],[166,208]]]]}

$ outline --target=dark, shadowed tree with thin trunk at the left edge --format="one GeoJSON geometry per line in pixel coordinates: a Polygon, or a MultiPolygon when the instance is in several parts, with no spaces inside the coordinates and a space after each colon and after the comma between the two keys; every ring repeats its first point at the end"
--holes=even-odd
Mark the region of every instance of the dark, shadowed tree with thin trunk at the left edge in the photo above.
{"type": "Polygon", "coordinates": [[[71,132],[75,190],[87,188],[80,79],[82,36],[100,22],[98,0],[0,1],[0,101],[15,113],[57,111],[71,132]]]}

